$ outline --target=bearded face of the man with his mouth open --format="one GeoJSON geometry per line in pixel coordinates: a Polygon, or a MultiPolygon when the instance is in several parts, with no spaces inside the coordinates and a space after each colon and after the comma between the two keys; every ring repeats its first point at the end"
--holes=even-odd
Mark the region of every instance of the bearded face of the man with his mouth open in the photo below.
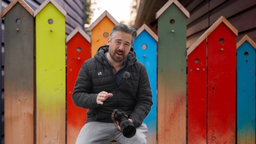
{"type": "Polygon", "coordinates": [[[111,41],[108,39],[108,45],[111,58],[117,63],[122,62],[131,49],[132,35],[116,31],[116,36],[111,41]]]}

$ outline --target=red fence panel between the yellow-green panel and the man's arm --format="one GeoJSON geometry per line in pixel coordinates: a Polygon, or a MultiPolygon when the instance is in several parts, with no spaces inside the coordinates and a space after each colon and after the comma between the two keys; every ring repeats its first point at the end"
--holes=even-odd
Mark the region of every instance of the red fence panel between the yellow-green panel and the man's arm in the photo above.
{"type": "Polygon", "coordinates": [[[67,43],[67,144],[76,142],[85,124],[87,110],[74,105],[72,93],[79,70],[90,57],[90,43],[80,33],[76,33],[67,43]],[[81,48],[81,51],[78,52],[77,48],[81,48]]]}

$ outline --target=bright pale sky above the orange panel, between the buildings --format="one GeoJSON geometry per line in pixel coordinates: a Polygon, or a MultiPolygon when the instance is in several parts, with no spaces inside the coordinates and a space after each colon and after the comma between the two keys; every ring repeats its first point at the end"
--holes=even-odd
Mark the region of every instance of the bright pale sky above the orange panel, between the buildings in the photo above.
{"type": "Polygon", "coordinates": [[[130,21],[132,0],[95,0],[97,4],[92,4],[94,22],[105,10],[107,10],[118,22],[124,21],[127,24],[130,21]]]}

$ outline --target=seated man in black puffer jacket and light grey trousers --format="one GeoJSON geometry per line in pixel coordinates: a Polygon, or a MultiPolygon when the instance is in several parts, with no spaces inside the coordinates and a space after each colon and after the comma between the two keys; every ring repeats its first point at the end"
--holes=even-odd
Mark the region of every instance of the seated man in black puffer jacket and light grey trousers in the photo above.
{"type": "Polygon", "coordinates": [[[112,28],[108,43],[98,49],[94,58],[86,60],[78,74],[73,102],[80,108],[89,108],[87,120],[76,144],[147,143],[148,115],[152,92],[145,66],[136,60],[131,48],[137,36],[136,29],[125,24],[112,28]],[[120,132],[118,121],[111,119],[113,110],[124,111],[136,127],[136,134],[126,138],[120,132]],[[115,126],[116,125],[116,126],[115,126]]]}

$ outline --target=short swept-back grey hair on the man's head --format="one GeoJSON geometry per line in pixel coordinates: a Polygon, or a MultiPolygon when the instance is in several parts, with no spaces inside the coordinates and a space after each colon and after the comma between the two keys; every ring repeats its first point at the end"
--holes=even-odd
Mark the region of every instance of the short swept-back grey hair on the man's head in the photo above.
{"type": "Polygon", "coordinates": [[[126,24],[118,24],[118,25],[115,25],[110,32],[110,36],[109,36],[110,41],[113,37],[116,36],[116,31],[122,31],[127,34],[131,34],[132,35],[132,44],[137,36],[137,31],[135,28],[127,26],[126,24]]]}

